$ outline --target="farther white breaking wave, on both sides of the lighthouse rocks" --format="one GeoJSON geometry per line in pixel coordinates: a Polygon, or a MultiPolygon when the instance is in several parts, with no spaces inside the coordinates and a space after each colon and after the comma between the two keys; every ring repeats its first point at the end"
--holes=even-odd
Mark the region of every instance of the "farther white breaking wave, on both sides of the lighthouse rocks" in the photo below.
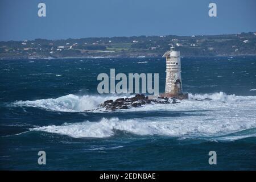
{"type": "MultiPolygon", "coordinates": [[[[106,100],[115,100],[120,97],[129,96],[76,96],[74,94],[68,94],[67,96],[58,98],[48,98],[35,101],[16,101],[14,106],[27,106],[27,107],[39,107],[42,109],[64,112],[81,112],[85,110],[97,109],[98,105],[106,100]]],[[[146,111],[146,110],[197,110],[197,109],[219,109],[226,107],[228,109],[236,109],[237,107],[251,107],[255,108],[256,96],[236,96],[234,94],[227,95],[223,92],[213,94],[189,94],[189,100],[180,101],[179,104],[170,105],[145,105],[143,107],[132,108],[129,111],[146,111]],[[205,100],[205,99],[210,100],[205,100]],[[199,101],[201,100],[201,101],[199,101]]],[[[256,108],[255,108],[256,109],[256,108]]]]}

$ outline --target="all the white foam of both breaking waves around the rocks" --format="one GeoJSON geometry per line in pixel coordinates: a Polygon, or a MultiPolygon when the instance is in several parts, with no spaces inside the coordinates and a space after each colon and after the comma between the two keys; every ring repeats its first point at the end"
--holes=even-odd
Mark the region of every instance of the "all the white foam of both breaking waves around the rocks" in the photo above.
{"type": "MultiPolygon", "coordinates": [[[[119,96],[120,97],[120,96],[119,96]]],[[[57,111],[84,111],[97,108],[105,100],[118,96],[67,96],[56,99],[18,101],[15,105],[40,107],[57,111]]],[[[65,123],[60,126],[35,127],[31,130],[46,131],[74,138],[112,137],[116,130],[136,135],[167,135],[171,137],[217,137],[217,140],[236,140],[255,137],[255,132],[242,135],[228,135],[256,127],[256,96],[214,94],[189,94],[190,100],[178,104],[155,104],[119,110],[119,112],[161,111],[169,116],[118,119],[102,118],[98,122],[65,123]],[[211,100],[204,100],[210,98],[211,100]],[[197,100],[202,101],[197,101],[197,100]],[[175,113],[178,113],[175,116],[175,113]],[[223,136],[224,135],[224,136],[223,136]],[[223,137],[221,137],[223,136],[223,137]]]]}

